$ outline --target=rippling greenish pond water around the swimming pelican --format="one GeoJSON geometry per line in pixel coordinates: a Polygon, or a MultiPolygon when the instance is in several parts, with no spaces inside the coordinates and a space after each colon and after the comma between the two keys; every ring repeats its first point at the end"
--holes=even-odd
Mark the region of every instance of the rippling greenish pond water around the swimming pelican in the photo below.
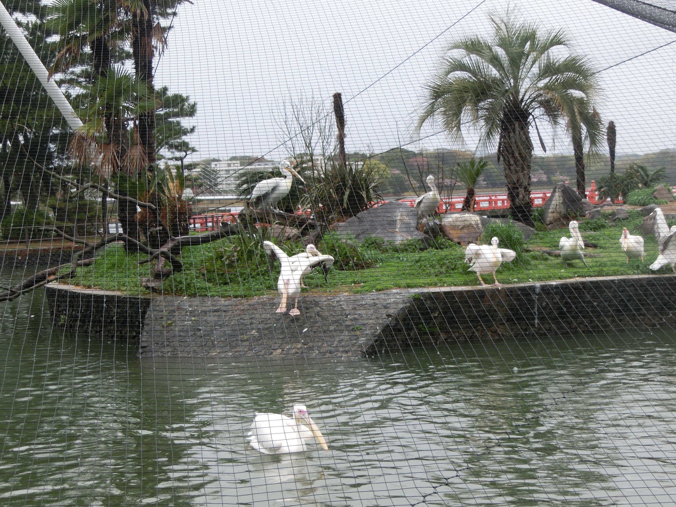
{"type": "Polygon", "coordinates": [[[52,332],[40,291],[0,311],[1,505],[676,498],[673,332],[466,341],[352,363],[207,363],[141,360],[133,347],[52,332]],[[248,447],[254,412],[297,402],[329,452],[248,447]]]}

